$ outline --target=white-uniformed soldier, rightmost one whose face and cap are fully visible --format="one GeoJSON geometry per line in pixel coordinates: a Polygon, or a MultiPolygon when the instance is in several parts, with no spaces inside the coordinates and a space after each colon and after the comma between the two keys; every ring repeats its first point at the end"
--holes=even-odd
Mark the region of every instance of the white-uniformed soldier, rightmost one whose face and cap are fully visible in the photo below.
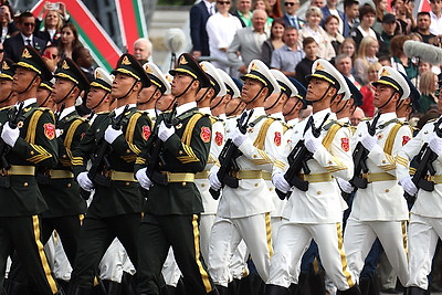
{"type": "Polygon", "coordinates": [[[359,280],[364,261],[376,238],[381,242],[387,257],[399,280],[408,282],[407,224],[408,208],[403,190],[398,185],[394,160],[398,151],[412,134],[409,126],[399,122],[396,107],[409,97],[410,88],[401,74],[388,66],[379,71],[373,105],[381,112],[376,134],[368,133],[366,123],[358,125],[352,145],[358,141],[369,151],[367,159],[367,188],[356,192],[344,236],[348,266],[359,280]]]}

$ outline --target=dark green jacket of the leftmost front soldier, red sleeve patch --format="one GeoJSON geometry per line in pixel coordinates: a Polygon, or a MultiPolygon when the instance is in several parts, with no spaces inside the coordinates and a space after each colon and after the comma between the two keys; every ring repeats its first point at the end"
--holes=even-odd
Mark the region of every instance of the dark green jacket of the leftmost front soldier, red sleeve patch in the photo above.
{"type": "MultiPolygon", "coordinates": [[[[7,155],[8,162],[53,168],[59,155],[52,112],[31,104],[23,108],[21,118],[20,137],[7,155]]],[[[27,217],[48,210],[34,176],[11,176],[10,187],[0,187],[0,217],[27,217]]]]}

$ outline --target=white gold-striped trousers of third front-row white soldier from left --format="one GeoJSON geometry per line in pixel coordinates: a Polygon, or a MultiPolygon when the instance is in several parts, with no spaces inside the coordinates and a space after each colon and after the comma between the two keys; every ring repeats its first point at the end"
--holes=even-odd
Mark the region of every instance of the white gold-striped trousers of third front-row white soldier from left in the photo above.
{"type": "Polygon", "coordinates": [[[358,221],[349,218],[344,234],[348,267],[357,277],[376,238],[402,285],[408,282],[407,223],[406,221],[358,221]]]}

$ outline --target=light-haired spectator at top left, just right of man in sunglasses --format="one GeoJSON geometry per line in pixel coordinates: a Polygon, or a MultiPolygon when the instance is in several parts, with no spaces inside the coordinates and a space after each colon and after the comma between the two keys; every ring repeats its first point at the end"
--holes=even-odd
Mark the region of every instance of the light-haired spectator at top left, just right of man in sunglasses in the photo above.
{"type": "Polygon", "coordinates": [[[62,27],[64,24],[64,20],[67,19],[66,7],[63,2],[59,2],[59,9],[54,9],[52,6],[54,3],[45,2],[43,6],[43,10],[40,13],[39,18],[35,21],[35,31],[34,34],[46,42],[51,42],[51,44],[57,45],[61,38],[62,27]],[[43,21],[44,17],[44,28],[43,31],[40,31],[40,24],[43,21]]]}

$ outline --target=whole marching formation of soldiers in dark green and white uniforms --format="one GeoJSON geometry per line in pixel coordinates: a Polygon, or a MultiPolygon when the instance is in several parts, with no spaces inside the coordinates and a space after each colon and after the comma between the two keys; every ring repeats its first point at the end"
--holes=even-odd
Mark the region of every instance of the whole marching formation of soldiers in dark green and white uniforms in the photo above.
{"type": "Polygon", "coordinates": [[[397,70],[355,126],[361,94],[323,59],[307,88],[259,60],[241,81],[187,53],[167,74],[125,53],[92,83],[60,64],[2,61],[0,294],[306,294],[304,268],[312,295],[370,294],[376,239],[428,294],[442,120],[407,123],[397,70]]]}

